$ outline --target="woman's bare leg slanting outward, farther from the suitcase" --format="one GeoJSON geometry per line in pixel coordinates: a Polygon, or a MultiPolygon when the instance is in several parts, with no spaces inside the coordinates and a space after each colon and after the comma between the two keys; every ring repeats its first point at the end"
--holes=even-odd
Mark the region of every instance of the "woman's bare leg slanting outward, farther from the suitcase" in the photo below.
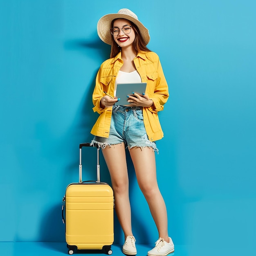
{"type": "Polygon", "coordinates": [[[159,237],[169,243],[167,211],[157,184],[155,153],[149,147],[134,147],[130,149],[130,155],[139,187],[148,202],[159,237]]]}

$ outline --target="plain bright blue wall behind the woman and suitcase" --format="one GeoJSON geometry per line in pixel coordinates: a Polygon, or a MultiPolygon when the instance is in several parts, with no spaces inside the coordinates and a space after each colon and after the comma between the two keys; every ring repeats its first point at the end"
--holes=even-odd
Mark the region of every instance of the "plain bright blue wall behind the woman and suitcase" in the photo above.
{"type": "MultiPolygon", "coordinates": [[[[121,8],[149,29],[148,47],[169,84],[156,158],[170,235],[190,255],[253,255],[253,0],[1,0],[0,241],[65,241],[61,200],[78,180],[78,144],[92,139],[94,79],[110,54],[96,25],[121,8]]],[[[84,152],[83,179],[91,180],[95,151],[84,152]]],[[[137,242],[154,243],[157,230],[129,172],[137,242]]],[[[109,182],[103,158],[101,180],[109,182]]],[[[115,243],[122,242],[116,224],[115,243]]]]}

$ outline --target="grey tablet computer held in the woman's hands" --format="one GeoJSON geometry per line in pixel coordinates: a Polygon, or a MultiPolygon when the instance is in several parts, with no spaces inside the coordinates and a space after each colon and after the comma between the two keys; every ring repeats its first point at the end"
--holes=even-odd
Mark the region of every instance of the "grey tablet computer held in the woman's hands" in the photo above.
{"type": "Polygon", "coordinates": [[[129,105],[127,95],[132,95],[132,92],[138,94],[144,93],[146,91],[146,85],[147,83],[118,83],[116,97],[120,98],[120,100],[115,103],[115,106],[129,105]]]}

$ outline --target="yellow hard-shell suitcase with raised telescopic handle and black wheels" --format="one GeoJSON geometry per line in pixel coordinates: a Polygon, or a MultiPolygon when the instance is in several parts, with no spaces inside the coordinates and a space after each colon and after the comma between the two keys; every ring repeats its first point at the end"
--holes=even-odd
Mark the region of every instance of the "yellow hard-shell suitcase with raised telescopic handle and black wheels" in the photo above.
{"type": "Polygon", "coordinates": [[[68,254],[76,249],[100,249],[110,255],[114,242],[113,190],[107,183],[100,182],[98,146],[97,181],[82,182],[83,146],[90,146],[90,143],[79,146],[79,182],[69,184],[63,197],[68,254]]]}

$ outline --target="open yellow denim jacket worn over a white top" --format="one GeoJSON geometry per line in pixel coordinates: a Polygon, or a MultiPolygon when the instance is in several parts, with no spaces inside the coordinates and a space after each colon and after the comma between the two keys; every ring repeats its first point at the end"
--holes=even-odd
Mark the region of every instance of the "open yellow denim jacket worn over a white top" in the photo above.
{"type": "MultiPolygon", "coordinates": [[[[150,141],[156,141],[164,137],[157,112],[164,109],[164,103],[169,97],[168,85],[155,52],[139,52],[133,61],[141,81],[147,83],[145,93],[153,100],[153,106],[143,108],[143,117],[148,138],[150,141]]],[[[123,63],[119,52],[117,56],[101,64],[92,94],[93,111],[100,114],[91,130],[93,135],[105,138],[109,136],[112,108],[101,108],[100,101],[106,95],[103,91],[114,95],[115,79],[123,63]]]]}

